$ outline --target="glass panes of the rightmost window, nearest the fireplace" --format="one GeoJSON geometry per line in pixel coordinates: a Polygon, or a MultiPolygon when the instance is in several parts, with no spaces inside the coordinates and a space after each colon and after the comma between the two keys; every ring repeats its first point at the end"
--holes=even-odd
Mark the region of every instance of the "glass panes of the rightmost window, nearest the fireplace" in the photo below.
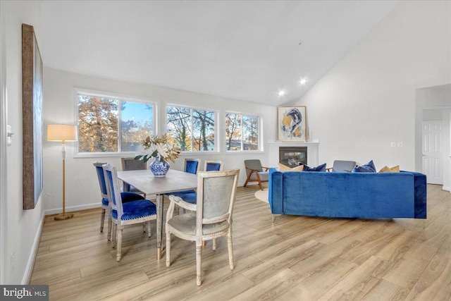
{"type": "Polygon", "coordinates": [[[259,116],[226,113],[226,150],[259,150],[259,116]]]}

